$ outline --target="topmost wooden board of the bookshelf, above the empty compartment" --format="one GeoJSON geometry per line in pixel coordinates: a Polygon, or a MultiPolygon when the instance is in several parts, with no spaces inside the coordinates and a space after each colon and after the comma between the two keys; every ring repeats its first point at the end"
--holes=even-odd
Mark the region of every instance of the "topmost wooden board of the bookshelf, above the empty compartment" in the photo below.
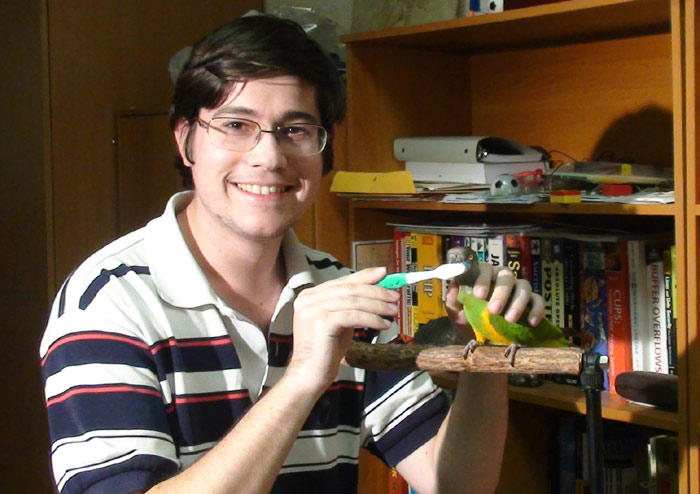
{"type": "Polygon", "coordinates": [[[343,43],[495,51],[670,32],[668,0],[569,0],[498,14],[346,34],[343,43]]]}

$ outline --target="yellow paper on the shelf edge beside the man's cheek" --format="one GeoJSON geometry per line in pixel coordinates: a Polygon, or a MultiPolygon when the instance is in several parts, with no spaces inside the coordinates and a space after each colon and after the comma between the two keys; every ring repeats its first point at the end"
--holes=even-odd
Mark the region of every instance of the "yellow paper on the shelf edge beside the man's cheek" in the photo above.
{"type": "Polygon", "coordinates": [[[338,171],[333,177],[331,192],[356,194],[415,194],[411,172],[346,172],[338,171]]]}

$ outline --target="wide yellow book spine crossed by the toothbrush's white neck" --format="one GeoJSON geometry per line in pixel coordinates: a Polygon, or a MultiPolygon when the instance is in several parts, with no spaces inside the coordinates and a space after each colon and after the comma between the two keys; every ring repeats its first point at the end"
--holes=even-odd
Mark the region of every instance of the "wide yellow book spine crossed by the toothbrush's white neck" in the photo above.
{"type": "MultiPolygon", "coordinates": [[[[442,237],[431,233],[416,236],[418,261],[416,271],[430,271],[442,264],[442,237]]],[[[418,287],[418,327],[446,314],[442,303],[442,284],[439,280],[426,280],[418,287]]],[[[414,325],[415,327],[415,325],[414,325]]]]}

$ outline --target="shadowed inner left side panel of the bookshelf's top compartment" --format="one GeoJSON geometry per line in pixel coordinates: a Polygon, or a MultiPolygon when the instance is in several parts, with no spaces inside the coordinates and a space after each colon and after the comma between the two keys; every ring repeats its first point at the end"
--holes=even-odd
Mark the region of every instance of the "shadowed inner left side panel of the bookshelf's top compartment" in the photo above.
{"type": "Polygon", "coordinates": [[[471,132],[463,56],[358,43],[348,66],[348,169],[402,169],[397,137],[471,132]]]}

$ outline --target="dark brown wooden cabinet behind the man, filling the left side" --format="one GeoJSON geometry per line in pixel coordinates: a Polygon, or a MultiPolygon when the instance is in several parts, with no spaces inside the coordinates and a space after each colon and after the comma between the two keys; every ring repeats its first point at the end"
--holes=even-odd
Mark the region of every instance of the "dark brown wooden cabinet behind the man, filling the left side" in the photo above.
{"type": "Polygon", "coordinates": [[[53,492],[38,347],[57,286],[177,190],[171,55],[262,3],[0,2],[3,492],[53,492]]]}

